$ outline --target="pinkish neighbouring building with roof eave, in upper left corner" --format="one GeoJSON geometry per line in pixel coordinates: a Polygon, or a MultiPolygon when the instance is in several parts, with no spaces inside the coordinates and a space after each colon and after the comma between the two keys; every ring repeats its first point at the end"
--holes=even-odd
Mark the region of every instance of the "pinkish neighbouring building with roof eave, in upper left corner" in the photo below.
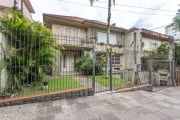
{"type": "MultiPolygon", "coordinates": [[[[32,13],[35,13],[33,6],[30,2],[30,0],[22,0],[23,5],[21,4],[21,0],[17,1],[17,9],[23,10],[23,15],[27,17],[28,19],[32,20],[32,13]]],[[[6,9],[6,8],[12,8],[14,5],[14,0],[0,0],[0,11],[6,9]]]]}

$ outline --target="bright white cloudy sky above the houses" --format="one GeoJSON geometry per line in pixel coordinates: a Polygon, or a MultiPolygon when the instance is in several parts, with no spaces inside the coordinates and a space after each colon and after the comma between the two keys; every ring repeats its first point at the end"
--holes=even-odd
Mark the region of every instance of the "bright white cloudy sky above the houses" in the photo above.
{"type": "MultiPolygon", "coordinates": [[[[43,22],[42,13],[78,16],[107,22],[107,2],[99,0],[91,7],[89,0],[30,0],[33,19],[43,22]]],[[[153,29],[172,22],[180,0],[116,0],[112,6],[111,24],[119,27],[153,29]],[[148,8],[148,9],[145,9],[148,8]],[[151,8],[151,9],[150,9],[151,8]]],[[[164,33],[164,27],[154,29],[164,33]]]]}

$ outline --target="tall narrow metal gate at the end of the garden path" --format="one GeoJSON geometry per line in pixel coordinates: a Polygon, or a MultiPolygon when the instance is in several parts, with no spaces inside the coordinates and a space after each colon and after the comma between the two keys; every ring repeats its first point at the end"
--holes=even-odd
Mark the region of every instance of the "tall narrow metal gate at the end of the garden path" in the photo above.
{"type": "Polygon", "coordinates": [[[122,57],[121,54],[113,54],[111,51],[109,53],[93,51],[92,80],[96,93],[114,91],[133,85],[132,79],[129,79],[132,71],[122,69],[122,57]]]}

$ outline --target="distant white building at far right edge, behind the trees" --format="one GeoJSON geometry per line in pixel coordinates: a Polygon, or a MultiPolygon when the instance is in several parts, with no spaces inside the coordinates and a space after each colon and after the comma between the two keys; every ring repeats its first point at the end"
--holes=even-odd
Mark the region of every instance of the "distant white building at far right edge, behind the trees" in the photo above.
{"type": "Polygon", "coordinates": [[[165,33],[173,36],[175,42],[180,42],[180,31],[176,30],[172,24],[165,27],[165,33]]]}

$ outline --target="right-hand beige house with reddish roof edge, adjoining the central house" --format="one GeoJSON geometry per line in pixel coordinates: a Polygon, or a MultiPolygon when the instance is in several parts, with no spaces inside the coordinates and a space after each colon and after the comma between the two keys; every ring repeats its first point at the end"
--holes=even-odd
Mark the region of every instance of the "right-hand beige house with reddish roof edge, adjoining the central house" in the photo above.
{"type": "MultiPolygon", "coordinates": [[[[127,33],[125,42],[126,68],[134,69],[134,32],[136,33],[137,64],[142,65],[144,59],[148,59],[146,51],[155,50],[163,41],[169,39],[168,35],[147,29],[132,28],[127,33]]],[[[140,68],[141,69],[141,68],[140,68]]],[[[143,69],[143,68],[142,68],[143,69]]]]}

